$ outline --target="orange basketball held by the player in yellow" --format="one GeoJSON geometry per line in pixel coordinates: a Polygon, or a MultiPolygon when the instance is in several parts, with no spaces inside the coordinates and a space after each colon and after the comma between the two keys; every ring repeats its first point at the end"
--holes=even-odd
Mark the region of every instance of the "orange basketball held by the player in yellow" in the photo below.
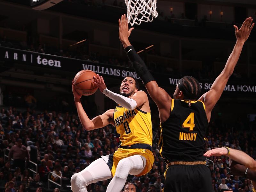
{"type": "Polygon", "coordinates": [[[76,91],[84,96],[92,95],[95,93],[98,89],[98,86],[92,82],[93,76],[96,77],[96,73],[91,70],[79,71],[74,78],[76,91]]]}

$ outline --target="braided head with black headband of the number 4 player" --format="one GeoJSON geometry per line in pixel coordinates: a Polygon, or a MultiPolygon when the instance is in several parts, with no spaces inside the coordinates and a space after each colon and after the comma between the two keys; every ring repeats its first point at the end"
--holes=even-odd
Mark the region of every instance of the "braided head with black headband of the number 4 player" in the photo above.
{"type": "Polygon", "coordinates": [[[174,99],[180,100],[197,100],[201,92],[199,82],[191,76],[182,77],[173,93],[174,99]]]}

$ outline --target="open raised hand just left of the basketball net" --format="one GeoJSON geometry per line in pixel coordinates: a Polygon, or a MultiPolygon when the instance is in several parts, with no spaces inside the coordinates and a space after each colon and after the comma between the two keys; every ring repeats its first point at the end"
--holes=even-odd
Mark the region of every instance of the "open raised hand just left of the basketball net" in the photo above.
{"type": "Polygon", "coordinates": [[[132,33],[132,30],[134,29],[132,28],[128,28],[128,20],[126,18],[126,15],[122,15],[121,19],[118,20],[118,24],[119,24],[119,39],[120,41],[123,43],[129,42],[128,38],[132,33]]]}

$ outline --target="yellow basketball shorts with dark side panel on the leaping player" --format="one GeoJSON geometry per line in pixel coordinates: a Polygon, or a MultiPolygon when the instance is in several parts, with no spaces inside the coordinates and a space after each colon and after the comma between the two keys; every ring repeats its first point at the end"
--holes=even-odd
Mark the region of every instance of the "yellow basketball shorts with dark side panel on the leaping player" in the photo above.
{"type": "Polygon", "coordinates": [[[130,156],[134,156],[134,155],[141,155],[144,156],[147,160],[146,166],[144,168],[144,170],[139,174],[139,175],[135,175],[135,176],[142,176],[145,175],[146,173],[148,173],[153,166],[154,163],[154,155],[152,153],[152,151],[150,151],[149,149],[125,149],[125,148],[118,148],[114,153],[110,154],[108,156],[108,167],[112,172],[112,175],[114,177],[115,173],[116,173],[116,166],[118,164],[118,162],[121,159],[124,159],[126,157],[130,157],[130,156]]]}

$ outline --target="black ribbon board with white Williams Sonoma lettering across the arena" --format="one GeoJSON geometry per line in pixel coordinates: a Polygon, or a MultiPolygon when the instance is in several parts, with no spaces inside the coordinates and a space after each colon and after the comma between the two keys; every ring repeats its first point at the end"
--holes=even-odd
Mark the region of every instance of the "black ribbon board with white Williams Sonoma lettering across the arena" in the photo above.
{"type": "MultiPolygon", "coordinates": [[[[136,79],[140,77],[134,72],[132,68],[118,67],[114,65],[107,65],[101,63],[94,63],[85,60],[71,59],[66,57],[60,57],[55,55],[24,51],[20,49],[12,49],[8,47],[0,46],[0,60],[10,61],[13,63],[40,66],[42,68],[52,68],[57,70],[64,70],[77,73],[83,69],[89,69],[95,73],[103,74],[106,76],[112,76],[113,78],[123,78],[124,76],[133,76],[136,79]]],[[[128,59],[127,59],[128,60],[128,59]]],[[[168,74],[152,73],[156,78],[156,81],[160,86],[176,86],[178,78],[170,76],[168,74]]],[[[200,83],[203,92],[208,91],[213,82],[202,82],[200,83]]],[[[230,83],[227,84],[225,92],[246,92],[255,93],[255,84],[241,84],[241,83],[230,83]]]]}

